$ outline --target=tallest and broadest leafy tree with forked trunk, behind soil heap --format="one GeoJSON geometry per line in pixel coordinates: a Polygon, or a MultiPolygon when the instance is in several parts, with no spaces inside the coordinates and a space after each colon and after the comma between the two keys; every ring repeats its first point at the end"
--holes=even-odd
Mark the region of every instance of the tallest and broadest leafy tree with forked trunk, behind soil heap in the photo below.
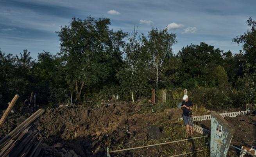
{"type": "Polygon", "coordinates": [[[127,33],[114,32],[109,29],[110,24],[108,18],[73,18],[70,25],[57,32],[66,80],[78,100],[84,86],[95,90],[115,81],[116,70],[122,64],[120,47],[124,46],[127,33]]]}

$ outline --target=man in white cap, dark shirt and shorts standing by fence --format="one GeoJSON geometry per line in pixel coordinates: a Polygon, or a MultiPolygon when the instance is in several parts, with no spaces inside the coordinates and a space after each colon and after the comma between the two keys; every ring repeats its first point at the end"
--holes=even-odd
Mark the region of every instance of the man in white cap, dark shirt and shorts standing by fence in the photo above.
{"type": "Polygon", "coordinates": [[[193,104],[188,100],[188,96],[183,96],[183,102],[181,103],[181,110],[183,111],[182,118],[187,128],[188,134],[193,135],[193,121],[192,121],[192,107],[193,104]]]}

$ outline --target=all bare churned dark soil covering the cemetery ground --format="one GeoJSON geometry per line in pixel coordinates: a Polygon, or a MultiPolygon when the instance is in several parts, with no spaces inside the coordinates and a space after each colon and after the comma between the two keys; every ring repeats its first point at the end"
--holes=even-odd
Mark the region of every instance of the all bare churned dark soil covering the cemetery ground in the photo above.
{"type": "MultiPolygon", "coordinates": [[[[107,155],[107,147],[110,150],[131,148],[175,141],[179,140],[173,138],[175,135],[183,136],[183,132],[177,130],[177,132],[172,132],[173,137],[167,137],[169,135],[163,129],[163,125],[168,125],[181,117],[180,109],[166,109],[164,112],[154,113],[142,113],[141,111],[139,104],[122,101],[105,101],[97,107],[48,108],[38,119],[37,126],[42,131],[40,137],[43,137],[44,156],[100,157],[107,155]],[[63,144],[63,148],[53,147],[57,143],[63,144]]],[[[234,109],[234,111],[239,110],[234,109]]],[[[16,112],[10,114],[0,130],[0,137],[11,132],[32,113],[16,112]]],[[[226,118],[226,120],[237,128],[232,141],[234,144],[237,142],[237,145],[243,145],[241,142],[256,141],[256,126],[250,123],[256,123],[255,116],[239,116],[226,118]]],[[[210,121],[200,121],[199,124],[204,128],[209,129],[210,127],[210,121]]],[[[172,127],[183,128],[183,124],[176,123],[172,127]]],[[[183,131],[186,132],[185,128],[183,131]]],[[[184,137],[182,138],[184,139],[184,137]]],[[[199,148],[196,141],[190,143],[193,147],[199,148]]],[[[155,157],[166,155],[168,152],[182,153],[184,152],[183,146],[180,144],[176,146],[162,145],[161,147],[111,153],[111,156],[155,157]]]]}

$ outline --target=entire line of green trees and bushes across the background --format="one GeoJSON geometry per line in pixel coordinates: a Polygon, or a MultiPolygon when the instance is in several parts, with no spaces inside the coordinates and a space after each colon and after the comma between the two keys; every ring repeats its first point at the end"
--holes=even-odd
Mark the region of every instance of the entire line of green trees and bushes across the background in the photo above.
{"type": "MultiPolygon", "coordinates": [[[[134,32],[113,31],[108,18],[73,18],[57,32],[61,51],[42,52],[37,60],[24,50],[13,56],[0,51],[0,108],[7,107],[15,94],[19,102],[37,93],[40,104],[70,101],[82,103],[149,98],[151,88],[172,88],[175,99],[158,105],[159,110],[177,107],[183,89],[194,104],[208,109],[241,107],[256,103],[256,22],[249,18],[251,30],[233,39],[242,44],[238,54],[223,52],[206,43],[187,45],[177,55],[172,46],[175,34],[152,28],[147,37],[134,32]],[[181,89],[183,87],[183,89],[181,89]]],[[[167,90],[168,89],[168,90],[167,90]]],[[[162,90],[156,99],[162,100],[162,90]]],[[[146,102],[148,103],[148,102],[146,102]]]]}

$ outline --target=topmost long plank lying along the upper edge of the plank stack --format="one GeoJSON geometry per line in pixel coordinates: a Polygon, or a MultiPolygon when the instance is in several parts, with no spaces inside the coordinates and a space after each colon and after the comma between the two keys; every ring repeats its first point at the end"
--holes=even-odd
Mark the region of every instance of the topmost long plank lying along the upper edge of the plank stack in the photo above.
{"type": "Polygon", "coordinates": [[[17,134],[21,133],[23,129],[27,128],[30,123],[32,123],[34,120],[36,120],[41,114],[43,114],[45,110],[39,109],[34,114],[32,114],[27,120],[23,121],[18,127],[16,127],[13,131],[11,131],[7,136],[2,138],[0,140],[0,148],[6,145],[9,140],[11,140],[13,137],[17,136],[17,134]]]}

